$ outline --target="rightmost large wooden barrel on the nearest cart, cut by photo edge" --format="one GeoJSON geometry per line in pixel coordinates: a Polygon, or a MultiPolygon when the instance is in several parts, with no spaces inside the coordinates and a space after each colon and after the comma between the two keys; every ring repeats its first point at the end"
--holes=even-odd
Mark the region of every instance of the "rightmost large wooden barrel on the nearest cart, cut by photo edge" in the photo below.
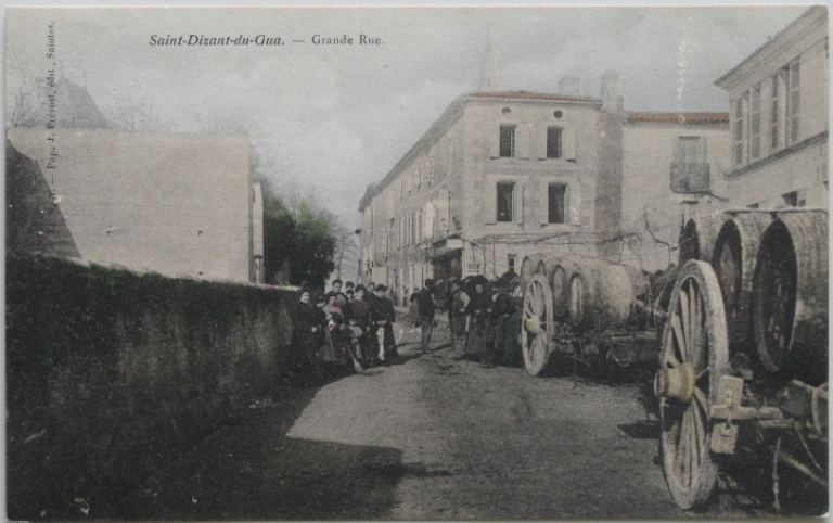
{"type": "Polygon", "coordinates": [[[828,381],[828,212],[780,211],[760,241],[752,319],[761,363],[784,379],[828,381]]]}

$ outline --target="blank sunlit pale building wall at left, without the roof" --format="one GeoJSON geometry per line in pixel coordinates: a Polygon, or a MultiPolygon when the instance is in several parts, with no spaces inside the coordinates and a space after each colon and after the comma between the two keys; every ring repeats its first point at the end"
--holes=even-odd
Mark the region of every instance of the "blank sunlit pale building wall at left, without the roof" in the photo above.
{"type": "Polygon", "coordinates": [[[8,139],[37,162],[81,258],[258,281],[262,202],[245,137],[15,128],[8,139]]]}

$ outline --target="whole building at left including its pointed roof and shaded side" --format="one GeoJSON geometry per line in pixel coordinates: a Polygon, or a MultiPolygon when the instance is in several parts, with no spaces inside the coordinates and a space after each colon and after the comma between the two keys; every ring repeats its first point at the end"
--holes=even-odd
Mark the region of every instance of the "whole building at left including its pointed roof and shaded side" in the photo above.
{"type": "Polygon", "coordinates": [[[9,251],[264,282],[262,186],[245,137],[116,131],[63,76],[52,102],[7,131],[9,251]]]}

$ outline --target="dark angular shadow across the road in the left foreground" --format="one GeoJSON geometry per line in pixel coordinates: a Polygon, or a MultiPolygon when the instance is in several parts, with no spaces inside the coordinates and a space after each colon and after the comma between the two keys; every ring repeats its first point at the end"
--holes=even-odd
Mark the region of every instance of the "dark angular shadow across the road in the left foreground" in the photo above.
{"type": "MultiPolygon", "coordinates": [[[[119,508],[130,520],[389,519],[400,450],[287,437],[318,387],[275,391],[119,508]]],[[[101,515],[100,515],[101,516],[101,515]]]]}

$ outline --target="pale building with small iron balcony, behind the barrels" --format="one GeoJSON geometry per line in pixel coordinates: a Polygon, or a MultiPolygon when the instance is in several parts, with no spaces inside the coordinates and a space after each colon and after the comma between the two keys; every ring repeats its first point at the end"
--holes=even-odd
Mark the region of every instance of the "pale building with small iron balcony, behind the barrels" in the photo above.
{"type": "Polygon", "coordinates": [[[728,205],[729,141],[728,113],[629,113],[621,128],[621,214],[612,224],[623,241],[602,255],[649,271],[676,263],[683,224],[728,205]]]}

